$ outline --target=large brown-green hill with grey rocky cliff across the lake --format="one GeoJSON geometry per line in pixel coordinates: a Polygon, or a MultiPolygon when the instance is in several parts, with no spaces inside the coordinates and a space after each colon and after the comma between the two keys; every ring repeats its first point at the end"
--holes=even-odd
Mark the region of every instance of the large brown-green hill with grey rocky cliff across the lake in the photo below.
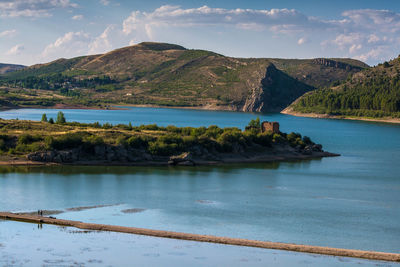
{"type": "Polygon", "coordinates": [[[367,67],[351,59],[232,58],[147,42],[34,65],[0,76],[0,85],[40,89],[40,94],[52,91],[61,95],[53,97],[56,102],[64,97],[64,102],[90,105],[152,104],[267,112],[280,111],[305,92],[345,80],[367,67]]]}

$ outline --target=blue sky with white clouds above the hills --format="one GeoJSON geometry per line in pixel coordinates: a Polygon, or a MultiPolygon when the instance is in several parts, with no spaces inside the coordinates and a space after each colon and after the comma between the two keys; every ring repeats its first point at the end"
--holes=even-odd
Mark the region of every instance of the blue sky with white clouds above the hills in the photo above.
{"type": "Polygon", "coordinates": [[[0,62],[33,65],[144,41],[233,57],[400,54],[398,0],[0,0],[0,62]]]}

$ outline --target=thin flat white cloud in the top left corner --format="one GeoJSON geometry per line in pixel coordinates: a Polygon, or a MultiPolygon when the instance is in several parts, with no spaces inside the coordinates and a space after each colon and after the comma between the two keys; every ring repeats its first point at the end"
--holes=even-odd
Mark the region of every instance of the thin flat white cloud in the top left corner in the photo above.
{"type": "Polygon", "coordinates": [[[1,0],[0,17],[50,17],[55,8],[75,8],[70,0],[1,0]]]}

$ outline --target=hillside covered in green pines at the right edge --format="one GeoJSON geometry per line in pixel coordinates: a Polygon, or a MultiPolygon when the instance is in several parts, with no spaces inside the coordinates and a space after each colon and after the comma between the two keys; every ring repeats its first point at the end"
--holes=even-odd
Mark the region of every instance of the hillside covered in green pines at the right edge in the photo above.
{"type": "Polygon", "coordinates": [[[285,112],[400,118],[400,56],[336,86],[309,92],[285,112]]]}

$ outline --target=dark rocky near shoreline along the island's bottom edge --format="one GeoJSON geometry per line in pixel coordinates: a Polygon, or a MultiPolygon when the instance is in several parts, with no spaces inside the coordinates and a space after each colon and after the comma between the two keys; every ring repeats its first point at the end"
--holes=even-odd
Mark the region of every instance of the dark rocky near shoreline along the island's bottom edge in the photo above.
{"type": "Polygon", "coordinates": [[[26,159],[0,160],[0,166],[221,166],[241,163],[270,163],[270,162],[289,162],[297,160],[312,160],[324,157],[339,157],[340,154],[330,152],[313,152],[311,155],[303,154],[281,154],[264,155],[253,158],[233,158],[227,157],[222,160],[194,160],[194,165],[171,165],[168,161],[137,161],[137,162],[113,162],[113,161],[78,161],[72,163],[41,162],[26,159]]]}

